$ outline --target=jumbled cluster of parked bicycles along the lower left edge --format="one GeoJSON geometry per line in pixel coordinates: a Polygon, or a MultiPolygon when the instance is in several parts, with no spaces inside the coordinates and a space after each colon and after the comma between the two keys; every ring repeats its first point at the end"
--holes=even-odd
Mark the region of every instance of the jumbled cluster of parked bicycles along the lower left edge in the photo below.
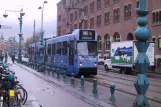
{"type": "Polygon", "coordinates": [[[19,84],[14,72],[0,65],[0,107],[23,107],[27,91],[19,84]]]}

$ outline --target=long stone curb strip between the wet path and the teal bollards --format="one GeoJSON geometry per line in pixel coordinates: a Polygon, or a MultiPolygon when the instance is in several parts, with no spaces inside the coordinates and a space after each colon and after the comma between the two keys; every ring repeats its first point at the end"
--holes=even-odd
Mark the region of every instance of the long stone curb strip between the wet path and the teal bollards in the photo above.
{"type": "Polygon", "coordinates": [[[70,92],[71,94],[77,96],[82,101],[85,101],[88,104],[93,105],[94,107],[114,107],[114,106],[111,105],[111,103],[109,104],[109,103],[106,103],[105,101],[102,101],[102,100],[99,100],[99,99],[95,99],[92,96],[87,96],[83,92],[80,92],[80,91],[78,92],[78,90],[71,89],[70,86],[66,86],[64,84],[61,84],[60,82],[58,83],[56,81],[50,80],[48,78],[45,78],[45,76],[42,77],[38,73],[33,72],[33,71],[27,69],[25,65],[21,65],[21,64],[16,64],[16,65],[21,67],[22,69],[25,69],[26,71],[29,71],[30,73],[34,74],[35,76],[37,76],[37,77],[39,77],[39,78],[41,78],[41,79],[43,79],[43,80],[45,80],[45,81],[47,81],[49,83],[52,83],[52,84],[58,86],[59,88],[65,90],[65,91],[70,92]],[[23,67],[23,66],[25,66],[25,67],[23,67]]]}

